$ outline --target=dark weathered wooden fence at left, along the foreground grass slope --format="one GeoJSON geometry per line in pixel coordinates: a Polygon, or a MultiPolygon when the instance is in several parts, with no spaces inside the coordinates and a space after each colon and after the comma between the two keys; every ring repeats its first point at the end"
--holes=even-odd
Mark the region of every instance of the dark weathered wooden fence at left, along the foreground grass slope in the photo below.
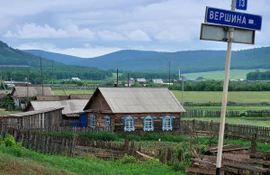
{"type": "Polygon", "coordinates": [[[1,129],[1,136],[12,134],[16,142],[22,142],[24,148],[44,154],[66,155],[72,157],[76,147],[76,136],[63,137],[38,134],[31,130],[1,129]]]}

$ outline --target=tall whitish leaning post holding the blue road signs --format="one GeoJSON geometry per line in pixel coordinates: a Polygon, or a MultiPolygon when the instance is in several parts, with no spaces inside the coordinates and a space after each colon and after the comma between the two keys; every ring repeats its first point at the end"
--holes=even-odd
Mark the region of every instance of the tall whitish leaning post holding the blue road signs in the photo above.
{"type": "MultiPolygon", "coordinates": [[[[236,1],[231,0],[231,11],[235,11],[236,1]]],[[[231,57],[231,45],[233,40],[233,31],[234,28],[229,27],[229,41],[227,46],[227,56],[226,56],[226,66],[225,66],[225,78],[223,84],[223,95],[222,95],[222,106],[221,106],[221,114],[220,114],[220,133],[219,133],[219,144],[218,144],[218,155],[217,155],[217,163],[216,163],[216,174],[220,175],[220,167],[221,167],[221,157],[222,157],[222,148],[223,148],[223,137],[224,137],[224,129],[225,129],[225,116],[226,116],[226,107],[227,107],[227,97],[228,97],[228,86],[229,86],[229,65],[230,65],[230,57],[231,57]]]]}

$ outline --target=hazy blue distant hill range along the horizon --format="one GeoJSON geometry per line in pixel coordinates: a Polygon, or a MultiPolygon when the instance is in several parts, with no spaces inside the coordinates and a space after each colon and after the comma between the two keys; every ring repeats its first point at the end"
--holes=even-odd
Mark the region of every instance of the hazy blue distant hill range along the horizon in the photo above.
{"type": "MultiPolygon", "coordinates": [[[[94,66],[100,69],[123,69],[132,71],[167,71],[180,67],[184,73],[222,70],[226,51],[116,51],[100,57],[82,59],[47,51],[29,51],[51,60],[66,64],[94,66]]],[[[232,51],[231,69],[270,69],[270,47],[244,51],[232,51]]]]}

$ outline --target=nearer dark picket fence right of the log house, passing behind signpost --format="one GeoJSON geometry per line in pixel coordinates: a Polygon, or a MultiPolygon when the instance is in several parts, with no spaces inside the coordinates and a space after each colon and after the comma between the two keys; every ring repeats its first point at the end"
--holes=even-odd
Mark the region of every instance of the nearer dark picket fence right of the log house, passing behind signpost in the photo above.
{"type": "MultiPolygon", "coordinates": [[[[191,134],[193,131],[208,131],[212,133],[219,133],[220,123],[198,120],[180,121],[181,134],[191,134]]],[[[258,137],[270,138],[270,127],[243,124],[225,124],[225,134],[232,136],[250,136],[252,134],[257,134],[258,137]]]]}

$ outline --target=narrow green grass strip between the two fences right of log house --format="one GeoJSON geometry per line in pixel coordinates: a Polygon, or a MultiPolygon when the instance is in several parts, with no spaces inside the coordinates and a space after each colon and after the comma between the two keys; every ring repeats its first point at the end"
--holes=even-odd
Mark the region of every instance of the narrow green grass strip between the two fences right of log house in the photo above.
{"type": "MultiPolygon", "coordinates": [[[[220,122],[220,117],[182,117],[181,120],[201,120],[220,122]]],[[[270,117],[226,117],[227,124],[244,124],[257,126],[270,126],[270,117]]]]}

